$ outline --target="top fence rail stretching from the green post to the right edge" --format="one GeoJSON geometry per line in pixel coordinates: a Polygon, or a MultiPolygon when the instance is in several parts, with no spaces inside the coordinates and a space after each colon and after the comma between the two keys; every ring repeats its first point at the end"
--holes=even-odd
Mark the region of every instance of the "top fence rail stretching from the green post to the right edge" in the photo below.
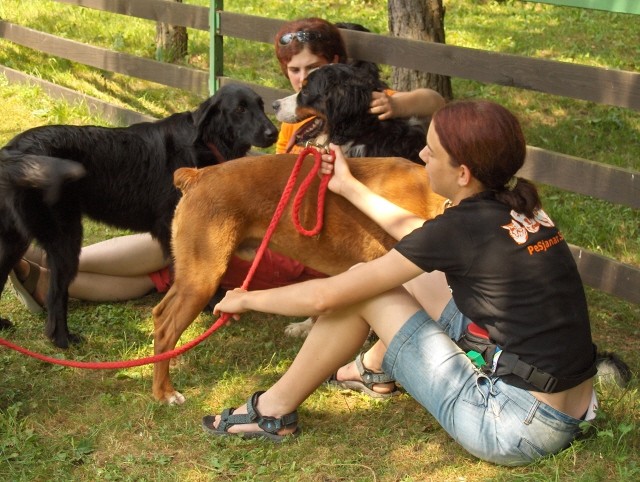
{"type": "MultiPolygon", "coordinates": [[[[220,35],[272,43],[284,21],[219,12],[220,35]]],[[[349,56],[640,110],[640,73],[345,30],[349,56]],[[374,46],[375,47],[372,47],[374,46]]]]}

